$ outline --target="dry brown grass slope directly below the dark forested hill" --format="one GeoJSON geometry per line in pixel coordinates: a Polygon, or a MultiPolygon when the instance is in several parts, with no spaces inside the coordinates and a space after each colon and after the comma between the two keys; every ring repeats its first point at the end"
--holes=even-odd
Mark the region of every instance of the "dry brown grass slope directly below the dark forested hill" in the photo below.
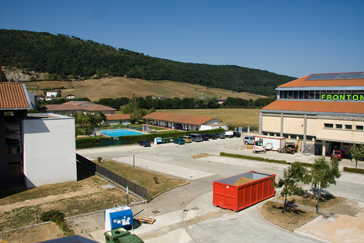
{"type": "MultiPolygon", "coordinates": [[[[43,94],[40,89],[51,89],[51,81],[25,82],[29,92],[35,95],[43,94]]],[[[173,81],[152,81],[137,78],[113,77],[102,79],[88,79],[85,81],[52,81],[52,89],[65,87],[62,90],[62,97],[73,94],[77,98],[88,97],[91,101],[98,101],[101,98],[131,97],[135,94],[140,97],[147,95],[166,96],[169,98],[179,97],[201,97],[201,93],[206,96],[217,96],[221,99],[227,97],[238,97],[243,99],[258,99],[265,97],[249,93],[237,93],[234,91],[222,90],[173,81]]]]}

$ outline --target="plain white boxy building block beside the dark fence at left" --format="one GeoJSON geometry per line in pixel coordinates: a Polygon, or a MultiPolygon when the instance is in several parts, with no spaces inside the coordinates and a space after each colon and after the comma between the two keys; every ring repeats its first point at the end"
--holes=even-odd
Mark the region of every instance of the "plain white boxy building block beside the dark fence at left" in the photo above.
{"type": "MultiPolygon", "coordinates": [[[[39,114],[28,116],[33,115],[39,114]]],[[[23,120],[27,188],[77,181],[75,120],[52,116],[55,118],[23,120]]]]}

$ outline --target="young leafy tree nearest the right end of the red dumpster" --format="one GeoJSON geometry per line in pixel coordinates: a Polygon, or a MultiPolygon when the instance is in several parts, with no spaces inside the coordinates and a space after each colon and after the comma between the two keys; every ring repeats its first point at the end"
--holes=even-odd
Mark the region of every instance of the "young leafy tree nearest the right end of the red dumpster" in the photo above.
{"type": "Polygon", "coordinates": [[[283,178],[279,178],[278,182],[274,185],[276,188],[282,187],[281,196],[284,196],[284,206],[283,213],[287,209],[287,195],[304,195],[306,190],[298,186],[298,183],[302,182],[304,184],[309,184],[311,182],[311,175],[309,171],[302,166],[301,163],[292,163],[287,169],[283,171],[283,178]]]}

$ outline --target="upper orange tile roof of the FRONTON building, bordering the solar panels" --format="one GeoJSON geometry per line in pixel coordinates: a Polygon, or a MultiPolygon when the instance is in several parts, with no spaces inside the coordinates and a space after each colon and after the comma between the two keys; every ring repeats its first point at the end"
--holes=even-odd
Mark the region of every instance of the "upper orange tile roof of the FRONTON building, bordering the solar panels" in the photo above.
{"type": "Polygon", "coordinates": [[[279,85],[278,87],[343,87],[364,86],[364,79],[305,80],[310,75],[279,85]]]}

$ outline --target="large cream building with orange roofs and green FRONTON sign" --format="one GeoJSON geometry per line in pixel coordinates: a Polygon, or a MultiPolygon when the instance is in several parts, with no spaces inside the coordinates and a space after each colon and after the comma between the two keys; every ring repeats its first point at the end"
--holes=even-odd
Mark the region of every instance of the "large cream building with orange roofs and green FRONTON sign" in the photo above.
{"type": "Polygon", "coordinates": [[[276,90],[260,111],[260,135],[302,140],[315,155],[340,149],[345,158],[364,143],[364,72],[311,74],[276,90]]]}

